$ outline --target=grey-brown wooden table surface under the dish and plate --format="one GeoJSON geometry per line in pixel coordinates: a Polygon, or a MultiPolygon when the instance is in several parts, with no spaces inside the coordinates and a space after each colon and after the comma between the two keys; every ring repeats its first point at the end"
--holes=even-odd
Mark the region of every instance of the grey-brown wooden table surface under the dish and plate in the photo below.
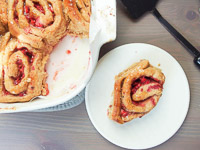
{"type": "MultiPolygon", "coordinates": [[[[200,1],[161,0],[160,13],[200,50],[200,1]]],[[[183,67],[191,102],[180,130],[155,150],[200,150],[200,69],[189,54],[151,15],[138,21],[127,16],[117,0],[117,39],[101,48],[100,56],[126,43],[149,43],[165,49],[183,67]]],[[[178,80],[178,79],[177,79],[178,80]]],[[[176,83],[175,83],[176,84],[176,83]]],[[[181,105],[181,104],[180,104],[181,105]]],[[[131,140],[131,139],[130,139],[131,140]]],[[[120,150],[91,124],[85,103],[61,112],[0,115],[1,150],[120,150]]]]}

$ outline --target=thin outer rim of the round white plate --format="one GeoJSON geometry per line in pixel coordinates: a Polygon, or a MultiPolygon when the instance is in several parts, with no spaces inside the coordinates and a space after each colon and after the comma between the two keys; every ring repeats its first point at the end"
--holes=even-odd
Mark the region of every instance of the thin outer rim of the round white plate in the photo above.
{"type": "MultiPolygon", "coordinates": [[[[99,66],[99,64],[101,63],[101,61],[104,59],[104,57],[106,57],[109,53],[113,52],[113,51],[117,51],[118,49],[121,49],[122,47],[126,47],[126,46],[130,46],[130,45],[145,45],[145,46],[150,46],[150,47],[154,47],[154,48],[157,48],[159,49],[160,51],[164,52],[165,54],[167,54],[169,57],[171,57],[172,59],[175,60],[175,62],[179,65],[179,68],[180,70],[183,72],[183,75],[184,75],[184,78],[185,78],[185,81],[186,81],[186,84],[187,84],[187,92],[188,92],[188,101],[187,101],[187,109],[185,110],[185,113],[183,115],[183,118],[182,118],[182,121],[179,122],[179,125],[177,126],[177,128],[175,129],[175,132],[170,135],[168,138],[166,138],[165,140],[163,140],[162,142],[156,144],[156,145],[153,145],[153,146],[150,146],[150,147],[142,147],[142,148],[135,148],[135,147],[128,147],[128,146],[123,146],[123,145],[120,145],[120,144],[117,144],[117,143],[114,143],[113,141],[111,141],[110,139],[108,139],[108,136],[107,135],[104,135],[104,133],[102,133],[96,123],[94,123],[94,120],[93,118],[91,117],[91,112],[89,112],[89,88],[90,88],[90,85],[91,85],[91,80],[93,78],[91,78],[90,82],[87,84],[86,86],[86,90],[85,90],[85,105],[86,105],[86,111],[87,111],[87,114],[89,116],[89,119],[92,123],[92,125],[95,127],[95,129],[97,130],[97,132],[103,137],[105,138],[107,141],[109,141],[110,143],[116,145],[116,146],[119,146],[121,148],[126,148],[126,149],[149,149],[149,148],[153,148],[153,147],[156,147],[156,146],[159,146],[165,142],[167,142],[171,137],[173,137],[177,132],[178,130],[181,128],[181,126],[183,125],[187,115],[188,115],[188,111],[189,111],[189,107],[190,107],[190,98],[191,98],[191,93],[190,93],[190,85],[189,85],[189,81],[188,81],[188,78],[187,78],[187,75],[183,69],[183,67],[180,65],[180,63],[170,54],[168,53],[167,51],[165,51],[164,49],[158,47],[158,46],[155,46],[155,45],[152,45],[152,44],[147,44],[147,43],[128,43],[128,44],[123,44],[121,46],[118,46],[116,48],[113,48],[112,50],[110,50],[109,52],[107,52],[99,61],[98,61],[98,64],[97,64],[97,67],[99,66]]],[[[96,67],[96,69],[97,69],[96,67]]],[[[95,70],[96,71],[96,70],[95,70]]],[[[94,72],[95,74],[95,72],[94,72]]]]}

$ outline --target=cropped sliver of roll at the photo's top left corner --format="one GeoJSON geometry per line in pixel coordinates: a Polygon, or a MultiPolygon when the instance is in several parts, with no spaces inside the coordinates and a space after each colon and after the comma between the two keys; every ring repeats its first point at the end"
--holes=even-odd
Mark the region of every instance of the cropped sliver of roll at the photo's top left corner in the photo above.
{"type": "Polygon", "coordinates": [[[0,0],[0,35],[7,31],[7,3],[5,0],[0,0]]]}

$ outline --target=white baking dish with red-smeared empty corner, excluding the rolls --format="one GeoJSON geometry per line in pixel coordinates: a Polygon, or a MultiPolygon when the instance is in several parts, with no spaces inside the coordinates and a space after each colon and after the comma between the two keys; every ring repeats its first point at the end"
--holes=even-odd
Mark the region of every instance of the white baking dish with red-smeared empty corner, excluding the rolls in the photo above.
{"type": "Polygon", "coordinates": [[[101,46],[116,38],[116,1],[93,0],[90,38],[67,36],[47,65],[50,93],[26,103],[0,103],[0,113],[33,111],[64,103],[84,89],[96,67],[101,46]]]}

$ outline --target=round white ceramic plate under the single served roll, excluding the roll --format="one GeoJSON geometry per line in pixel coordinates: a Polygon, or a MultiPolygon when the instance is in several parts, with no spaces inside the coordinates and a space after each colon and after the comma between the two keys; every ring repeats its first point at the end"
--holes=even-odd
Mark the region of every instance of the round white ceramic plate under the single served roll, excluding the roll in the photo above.
{"type": "Polygon", "coordinates": [[[129,149],[151,148],[168,140],[182,125],[189,102],[188,81],[179,63],[164,50],[148,44],[127,44],[106,54],[86,88],[86,108],[95,128],[110,142],[129,149]],[[107,117],[114,76],[141,59],[162,69],[166,76],[163,95],[144,117],[123,125],[115,123],[107,117]]]}

